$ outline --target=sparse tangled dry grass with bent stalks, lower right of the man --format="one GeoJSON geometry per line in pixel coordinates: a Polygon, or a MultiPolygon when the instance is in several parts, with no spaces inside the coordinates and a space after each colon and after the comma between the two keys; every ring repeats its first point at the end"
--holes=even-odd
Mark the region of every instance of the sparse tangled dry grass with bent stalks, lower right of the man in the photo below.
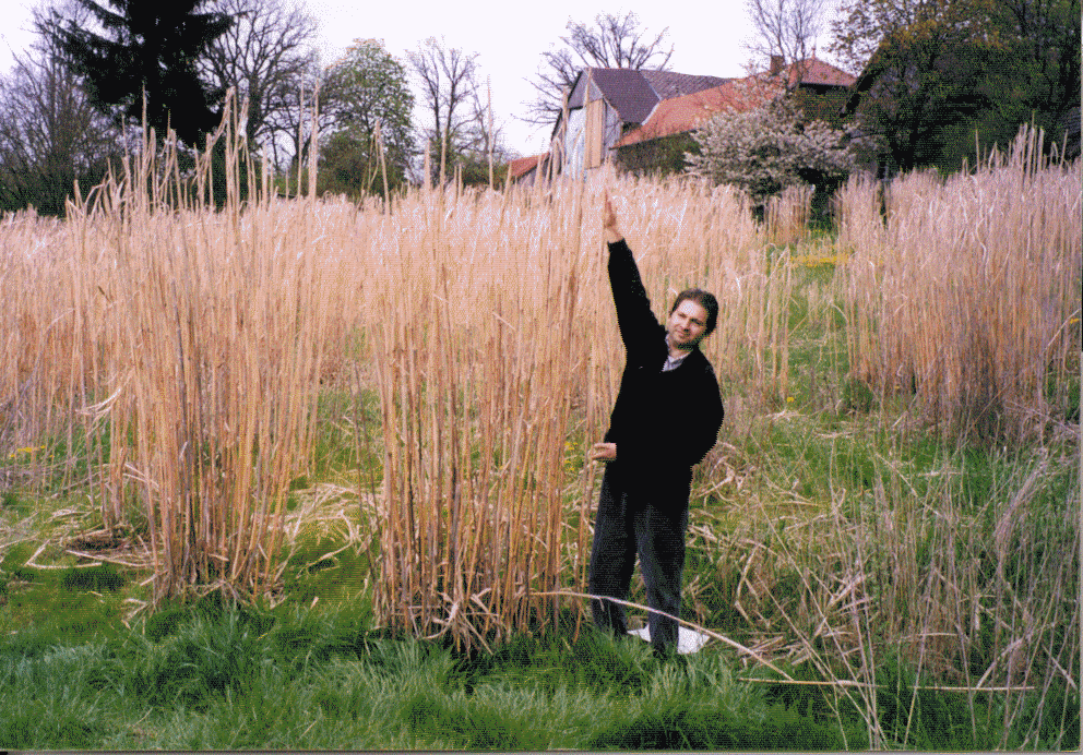
{"type": "Polygon", "coordinates": [[[885,454],[871,489],[835,487],[808,516],[750,496],[733,531],[705,546],[719,573],[739,575],[750,645],[811,663],[874,750],[914,746],[921,718],[947,726],[952,708],[969,711],[953,726],[975,743],[1073,741],[1059,717],[1080,673],[1079,460],[998,452],[976,496],[966,459],[948,454],[918,475],[885,454]]]}

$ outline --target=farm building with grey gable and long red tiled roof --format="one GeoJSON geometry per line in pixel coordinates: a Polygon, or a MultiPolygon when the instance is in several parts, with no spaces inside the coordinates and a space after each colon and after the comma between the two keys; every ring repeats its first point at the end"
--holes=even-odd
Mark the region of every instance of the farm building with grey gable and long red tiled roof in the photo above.
{"type": "MultiPolygon", "coordinates": [[[[554,156],[566,173],[584,175],[607,160],[627,170],[679,170],[692,132],[728,108],[751,108],[785,91],[806,99],[844,96],[854,76],[810,59],[738,79],[669,71],[584,69],[568,97],[567,127],[558,118],[554,156]]],[[[836,108],[837,109],[837,108],[836,108]]]]}

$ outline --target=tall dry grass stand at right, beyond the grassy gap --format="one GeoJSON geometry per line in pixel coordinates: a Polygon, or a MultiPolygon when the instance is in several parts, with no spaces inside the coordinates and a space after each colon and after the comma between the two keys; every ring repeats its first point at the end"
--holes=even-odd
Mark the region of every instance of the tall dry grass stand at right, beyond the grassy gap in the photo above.
{"type": "MultiPolygon", "coordinates": [[[[1033,436],[1070,415],[1079,371],[1078,163],[1025,128],[971,173],[842,190],[850,368],[952,438],[1033,436]],[[881,221],[881,201],[885,218],[881,221]]],[[[1078,402],[1078,399],[1074,399],[1078,402]]],[[[1076,411],[1078,411],[1078,404],[1076,411]]]]}

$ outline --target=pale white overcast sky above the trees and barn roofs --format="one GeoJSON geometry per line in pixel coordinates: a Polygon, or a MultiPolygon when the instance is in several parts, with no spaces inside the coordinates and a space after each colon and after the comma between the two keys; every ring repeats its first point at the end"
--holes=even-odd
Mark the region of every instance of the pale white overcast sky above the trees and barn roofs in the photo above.
{"type": "MultiPolygon", "coordinates": [[[[160,0],[168,2],[169,0],[160,0]]],[[[29,9],[37,0],[0,0],[0,70],[7,72],[12,50],[32,39],[29,9]]],[[[483,76],[492,85],[498,123],[507,145],[524,155],[546,148],[547,133],[516,119],[533,99],[526,80],[538,70],[542,53],[558,45],[569,19],[591,23],[603,11],[634,12],[651,38],[669,29],[674,48],[670,69],[680,73],[738,76],[745,72],[749,38],[745,0],[654,0],[612,5],[596,0],[548,0],[528,4],[503,0],[454,3],[443,0],[308,0],[320,23],[323,59],[337,58],[353,39],[383,39],[386,49],[405,62],[406,50],[427,37],[443,37],[450,47],[478,52],[483,76]],[[513,10],[514,9],[514,10],[513,10]]],[[[825,43],[821,43],[821,47],[825,43]]],[[[826,56],[821,52],[820,57],[826,56]]]]}

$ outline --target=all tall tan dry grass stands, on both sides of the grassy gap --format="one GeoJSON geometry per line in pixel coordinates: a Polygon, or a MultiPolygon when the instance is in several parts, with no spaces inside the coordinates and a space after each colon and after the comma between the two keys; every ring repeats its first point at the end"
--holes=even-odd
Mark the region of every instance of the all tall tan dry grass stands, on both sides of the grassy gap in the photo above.
{"type": "MultiPolygon", "coordinates": [[[[1034,159],[901,179],[886,224],[876,185],[842,194],[854,375],[957,432],[1067,402],[1045,379],[1078,353],[1079,177],[1034,159]]],[[[381,399],[380,621],[466,645],[547,626],[555,588],[585,587],[599,475],[579,466],[623,367],[605,191],[656,311],[690,285],[723,302],[705,351],[727,390],[785,406],[796,380],[797,273],[726,188],[603,175],[355,205],[252,175],[216,212],[177,193],[177,161],[140,160],[63,224],[0,225],[0,452],[84,443],[68,482],[107,527],[146,523],[157,597],[275,589],[321,381],[347,375],[381,399]]]]}

